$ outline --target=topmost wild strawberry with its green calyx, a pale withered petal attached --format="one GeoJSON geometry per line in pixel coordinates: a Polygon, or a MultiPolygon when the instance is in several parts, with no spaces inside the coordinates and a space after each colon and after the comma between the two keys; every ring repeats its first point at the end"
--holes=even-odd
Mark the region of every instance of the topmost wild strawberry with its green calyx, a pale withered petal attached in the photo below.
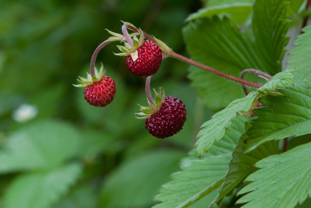
{"type": "Polygon", "coordinates": [[[162,62],[161,48],[151,40],[144,42],[142,31],[139,40],[133,37],[133,44],[134,47],[129,43],[125,43],[125,47],[117,46],[123,53],[115,55],[126,56],[125,65],[134,75],[147,77],[156,74],[162,62]]]}

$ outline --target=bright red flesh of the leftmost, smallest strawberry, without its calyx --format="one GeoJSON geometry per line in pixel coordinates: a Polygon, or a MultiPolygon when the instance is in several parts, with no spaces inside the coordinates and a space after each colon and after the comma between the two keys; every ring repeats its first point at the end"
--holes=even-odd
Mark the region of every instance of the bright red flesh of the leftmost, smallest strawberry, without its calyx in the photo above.
{"type": "Polygon", "coordinates": [[[84,99],[93,106],[104,107],[108,105],[116,93],[114,80],[104,76],[100,81],[84,89],[84,99]]]}

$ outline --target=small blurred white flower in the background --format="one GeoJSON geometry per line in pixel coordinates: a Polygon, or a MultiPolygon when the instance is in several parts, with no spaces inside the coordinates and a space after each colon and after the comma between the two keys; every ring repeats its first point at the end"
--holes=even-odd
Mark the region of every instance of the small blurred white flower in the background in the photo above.
{"type": "Polygon", "coordinates": [[[33,119],[38,113],[38,109],[36,106],[32,106],[29,104],[22,104],[19,106],[13,113],[12,118],[17,122],[26,122],[28,120],[33,119]]]}

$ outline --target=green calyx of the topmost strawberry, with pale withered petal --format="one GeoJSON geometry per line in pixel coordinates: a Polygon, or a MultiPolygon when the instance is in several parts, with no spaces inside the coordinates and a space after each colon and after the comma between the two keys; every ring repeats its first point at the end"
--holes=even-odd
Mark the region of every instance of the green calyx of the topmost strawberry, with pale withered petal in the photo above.
{"type": "MultiPolygon", "coordinates": [[[[145,36],[142,32],[141,29],[139,29],[139,33],[140,35],[139,39],[137,38],[137,33],[132,33],[130,34],[130,37],[133,37],[132,40],[133,40],[133,47],[127,43],[127,42],[124,42],[124,46],[117,46],[118,49],[122,52],[122,53],[114,53],[114,55],[117,55],[117,56],[131,56],[133,61],[136,61],[138,59],[138,48],[140,48],[143,44],[144,44],[144,40],[145,40],[145,36]]],[[[124,38],[123,38],[123,41],[124,41],[124,38]]]]}

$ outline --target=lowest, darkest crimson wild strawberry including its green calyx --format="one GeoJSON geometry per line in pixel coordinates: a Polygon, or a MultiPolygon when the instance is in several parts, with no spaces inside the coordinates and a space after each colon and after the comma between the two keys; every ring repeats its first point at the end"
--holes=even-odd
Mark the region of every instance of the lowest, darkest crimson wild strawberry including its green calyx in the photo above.
{"type": "Polygon", "coordinates": [[[156,93],[156,105],[149,102],[150,107],[141,106],[142,118],[146,119],[146,129],[152,136],[160,139],[171,137],[181,129],[186,121],[185,104],[177,97],[161,97],[161,88],[156,93]]]}

